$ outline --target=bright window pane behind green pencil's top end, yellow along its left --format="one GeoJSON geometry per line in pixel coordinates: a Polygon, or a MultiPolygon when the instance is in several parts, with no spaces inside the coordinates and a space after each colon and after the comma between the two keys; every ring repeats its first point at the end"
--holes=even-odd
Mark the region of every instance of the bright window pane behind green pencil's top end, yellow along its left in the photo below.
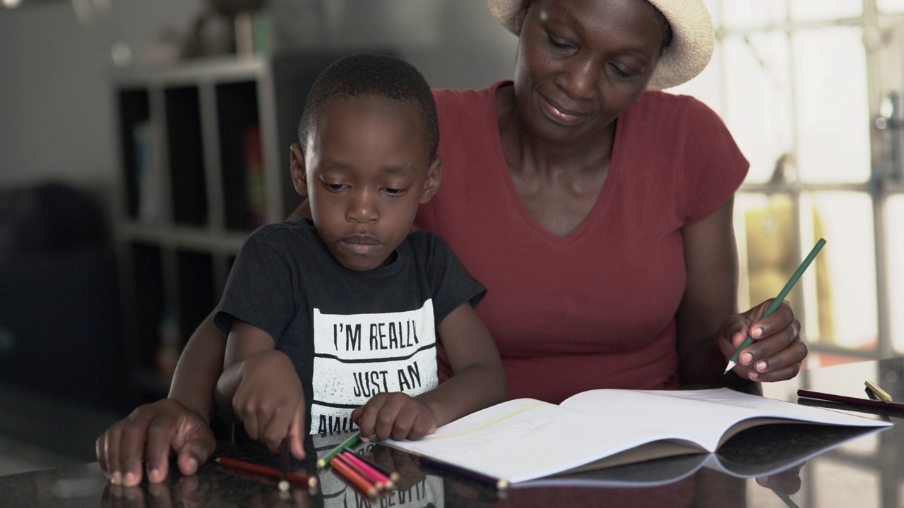
{"type": "MultiPolygon", "coordinates": [[[[806,338],[846,348],[872,350],[878,325],[872,204],[866,193],[805,193],[801,196],[801,252],[820,237],[823,250],[803,283],[806,338]],[[811,302],[813,302],[811,304],[811,302]],[[812,331],[818,330],[818,335],[812,331]]],[[[797,288],[795,288],[797,290],[797,288]]]]}

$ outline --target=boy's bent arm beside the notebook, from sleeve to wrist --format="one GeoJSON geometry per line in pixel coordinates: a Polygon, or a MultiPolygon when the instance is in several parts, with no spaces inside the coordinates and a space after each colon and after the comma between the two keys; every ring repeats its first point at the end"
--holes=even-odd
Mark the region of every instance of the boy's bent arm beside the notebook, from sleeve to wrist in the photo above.
{"type": "Polygon", "coordinates": [[[416,397],[436,415],[437,426],[508,397],[503,362],[493,336],[469,303],[458,306],[438,326],[454,375],[416,397]]]}

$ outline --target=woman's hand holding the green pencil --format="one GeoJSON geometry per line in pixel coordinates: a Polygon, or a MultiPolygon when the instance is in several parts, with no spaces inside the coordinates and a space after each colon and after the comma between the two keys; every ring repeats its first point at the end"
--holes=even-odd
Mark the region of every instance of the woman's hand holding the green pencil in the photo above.
{"type": "Polygon", "coordinates": [[[806,357],[806,344],[800,340],[800,322],[787,302],[782,302],[774,313],[763,317],[772,300],[753,307],[749,311],[732,315],[719,326],[719,349],[725,363],[748,334],[754,342],[738,355],[738,364],[732,369],[742,379],[751,381],[784,381],[797,375],[806,357]]]}

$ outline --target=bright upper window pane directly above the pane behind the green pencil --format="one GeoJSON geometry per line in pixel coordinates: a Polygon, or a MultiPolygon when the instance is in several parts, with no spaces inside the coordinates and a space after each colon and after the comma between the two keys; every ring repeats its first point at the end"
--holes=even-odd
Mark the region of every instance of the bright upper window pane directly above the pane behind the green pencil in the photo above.
{"type": "Polygon", "coordinates": [[[798,170],[805,182],[864,182],[870,174],[862,30],[832,27],[793,36],[799,114],[798,170]]]}

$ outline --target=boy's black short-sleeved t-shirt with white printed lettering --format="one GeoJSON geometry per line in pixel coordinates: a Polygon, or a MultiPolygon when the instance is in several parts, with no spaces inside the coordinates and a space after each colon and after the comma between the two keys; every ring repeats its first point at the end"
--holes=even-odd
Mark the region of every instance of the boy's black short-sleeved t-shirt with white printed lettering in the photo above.
{"type": "Polygon", "coordinates": [[[383,391],[436,388],[437,326],[486,289],[437,235],[411,233],[389,265],[343,267],[310,221],[263,226],[232,266],[214,323],[264,330],[295,364],[310,432],[353,428],[352,409],[383,391]]]}

